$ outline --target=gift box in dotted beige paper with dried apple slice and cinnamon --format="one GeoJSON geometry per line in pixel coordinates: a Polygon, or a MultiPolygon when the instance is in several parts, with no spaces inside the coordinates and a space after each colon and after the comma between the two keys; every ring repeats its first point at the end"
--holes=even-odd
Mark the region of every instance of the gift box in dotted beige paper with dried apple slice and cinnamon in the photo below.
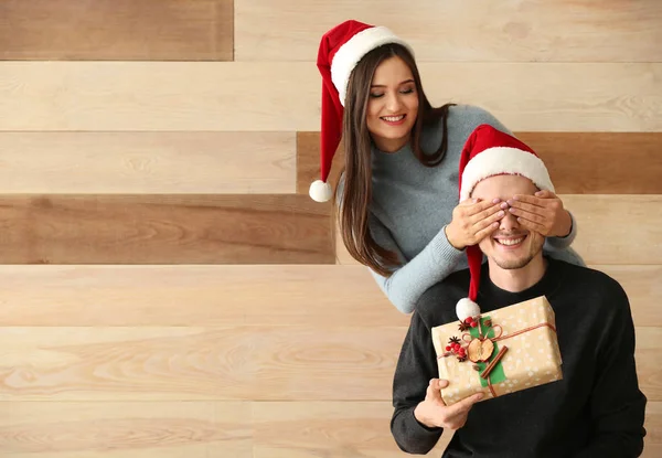
{"type": "Polygon", "coordinates": [[[441,398],[451,405],[563,380],[554,310],[544,296],[433,328],[441,398]]]}

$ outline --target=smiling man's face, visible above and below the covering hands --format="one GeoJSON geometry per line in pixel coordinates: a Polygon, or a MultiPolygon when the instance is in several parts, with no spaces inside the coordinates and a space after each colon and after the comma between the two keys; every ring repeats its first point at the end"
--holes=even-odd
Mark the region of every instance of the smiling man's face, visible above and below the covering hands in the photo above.
{"type": "MultiPolygon", "coordinates": [[[[537,188],[531,180],[520,175],[495,175],[479,182],[471,196],[491,201],[512,199],[514,194],[533,195],[537,188]]],[[[537,232],[530,232],[517,223],[516,216],[509,211],[500,221],[499,228],[480,242],[479,247],[485,256],[502,269],[522,268],[543,248],[545,237],[537,232]]]]}

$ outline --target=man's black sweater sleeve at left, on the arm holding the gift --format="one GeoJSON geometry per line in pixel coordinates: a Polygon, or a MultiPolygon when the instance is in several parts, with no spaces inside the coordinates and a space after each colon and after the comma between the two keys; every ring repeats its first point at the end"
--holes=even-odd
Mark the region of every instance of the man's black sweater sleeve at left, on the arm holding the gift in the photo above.
{"type": "Polygon", "coordinates": [[[439,438],[442,428],[429,428],[414,416],[425,400],[430,379],[437,379],[437,362],[430,331],[419,313],[412,315],[393,380],[393,417],[391,433],[401,450],[425,455],[439,438]]]}

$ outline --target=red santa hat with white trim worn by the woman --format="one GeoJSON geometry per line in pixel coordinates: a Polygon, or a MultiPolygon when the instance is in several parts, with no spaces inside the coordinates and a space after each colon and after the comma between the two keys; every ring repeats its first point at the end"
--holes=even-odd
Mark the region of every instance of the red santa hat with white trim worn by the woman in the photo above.
{"type": "Polygon", "coordinates": [[[407,43],[385,26],[354,20],[335,25],[320,41],[317,65],[322,75],[321,167],[320,179],[309,190],[310,196],[317,202],[325,202],[332,196],[327,180],[342,136],[342,115],[350,75],[365,54],[387,43],[402,44],[414,54],[407,43]]]}

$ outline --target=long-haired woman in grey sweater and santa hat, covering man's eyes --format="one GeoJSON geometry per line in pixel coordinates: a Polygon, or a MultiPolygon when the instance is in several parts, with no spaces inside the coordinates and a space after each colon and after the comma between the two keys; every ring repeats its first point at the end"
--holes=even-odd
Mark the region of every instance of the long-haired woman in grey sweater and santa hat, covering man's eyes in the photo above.
{"type": "Polygon", "coordinates": [[[402,312],[451,273],[468,267],[465,248],[498,226],[504,212],[547,237],[545,254],[584,265],[569,246],[576,224],[552,192],[508,202],[458,204],[459,158],[481,124],[512,132],[484,109],[430,105],[409,45],[388,29],[345,21],[324,34],[321,180],[316,201],[332,196],[325,182],[344,134],[345,169],[334,195],[343,243],[370,267],[402,312]]]}

